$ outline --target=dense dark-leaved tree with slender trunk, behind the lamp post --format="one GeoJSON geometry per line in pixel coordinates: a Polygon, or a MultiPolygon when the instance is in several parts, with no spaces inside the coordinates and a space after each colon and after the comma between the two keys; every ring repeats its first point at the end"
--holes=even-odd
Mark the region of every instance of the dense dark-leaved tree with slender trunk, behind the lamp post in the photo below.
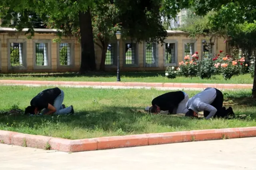
{"type": "MultiPolygon", "coordinates": [[[[161,15],[175,16],[185,6],[175,6],[161,0],[100,0],[91,8],[94,43],[102,49],[100,70],[105,68],[107,45],[115,39],[117,30],[122,31],[123,38],[131,38],[134,42],[164,42],[167,33],[162,26],[161,15]],[[169,7],[167,8],[167,6],[169,7]],[[170,5],[175,6],[170,10],[170,5]]],[[[174,2],[174,1],[170,1],[174,2]]],[[[180,1],[182,2],[182,1],[180,1]]],[[[187,5],[187,4],[186,4],[187,5]]],[[[170,18],[169,17],[169,18],[170,18]]],[[[168,17],[167,17],[168,18],[168,17]]],[[[54,28],[64,29],[66,34],[80,36],[81,28],[76,16],[52,18],[54,28]]]]}

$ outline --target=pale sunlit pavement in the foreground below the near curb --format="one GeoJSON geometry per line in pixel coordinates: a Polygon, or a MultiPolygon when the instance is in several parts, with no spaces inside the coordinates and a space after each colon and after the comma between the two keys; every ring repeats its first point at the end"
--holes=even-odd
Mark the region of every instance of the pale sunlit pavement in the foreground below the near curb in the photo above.
{"type": "Polygon", "coordinates": [[[0,144],[0,170],[256,170],[256,137],[72,154],[0,144]]]}

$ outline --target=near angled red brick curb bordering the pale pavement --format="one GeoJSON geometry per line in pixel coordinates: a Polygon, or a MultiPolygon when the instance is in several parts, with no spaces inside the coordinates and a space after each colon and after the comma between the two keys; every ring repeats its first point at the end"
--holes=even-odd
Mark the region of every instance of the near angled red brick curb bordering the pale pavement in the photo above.
{"type": "Polygon", "coordinates": [[[81,152],[178,142],[255,137],[256,127],[192,130],[69,140],[0,130],[0,142],[24,147],[81,152]]]}

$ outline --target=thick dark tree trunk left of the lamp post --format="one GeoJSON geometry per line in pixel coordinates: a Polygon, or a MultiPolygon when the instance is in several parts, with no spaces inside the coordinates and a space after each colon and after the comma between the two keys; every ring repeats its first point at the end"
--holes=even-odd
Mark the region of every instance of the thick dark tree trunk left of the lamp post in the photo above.
{"type": "Polygon", "coordinates": [[[92,34],[92,20],[90,7],[86,12],[79,12],[79,25],[81,34],[81,67],[80,72],[96,70],[95,51],[92,34]]]}

